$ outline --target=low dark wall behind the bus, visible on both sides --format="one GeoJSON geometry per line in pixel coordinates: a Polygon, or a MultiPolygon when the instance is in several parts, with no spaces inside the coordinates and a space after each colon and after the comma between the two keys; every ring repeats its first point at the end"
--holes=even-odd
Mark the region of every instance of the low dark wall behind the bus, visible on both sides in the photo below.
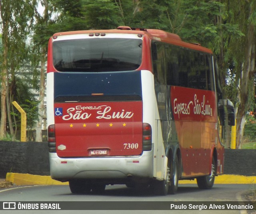
{"type": "MultiPolygon", "coordinates": [[[[0,178],[9,172],[50,175],[48,143],[0,141],[0,178]]],[[[256,149],[226,149],[224,173],[256,176],[256,149]]]]}

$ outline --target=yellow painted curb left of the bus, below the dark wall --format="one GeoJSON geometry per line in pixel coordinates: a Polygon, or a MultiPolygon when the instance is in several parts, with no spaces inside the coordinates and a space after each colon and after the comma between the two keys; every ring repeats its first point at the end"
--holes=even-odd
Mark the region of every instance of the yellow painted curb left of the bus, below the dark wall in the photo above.
{"type": "Polygon", "coordinates": [[[6,181],[10,181],[15,185],[68,185],[68,182],[55,181],[50,176],[21,173],[7,173],[6,181]]]}

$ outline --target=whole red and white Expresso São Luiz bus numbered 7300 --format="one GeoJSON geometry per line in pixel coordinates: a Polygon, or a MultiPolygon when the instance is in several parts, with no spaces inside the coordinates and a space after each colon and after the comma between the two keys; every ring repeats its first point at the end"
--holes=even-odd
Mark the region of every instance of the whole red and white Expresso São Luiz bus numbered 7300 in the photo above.
{"type": "Polygon", "coordinates": [[[222,98],[212,51],[157,29],[55,33],[48,45],[50,174],[71,192],[106,185],[175,194],[223,173],[222,98]]]}

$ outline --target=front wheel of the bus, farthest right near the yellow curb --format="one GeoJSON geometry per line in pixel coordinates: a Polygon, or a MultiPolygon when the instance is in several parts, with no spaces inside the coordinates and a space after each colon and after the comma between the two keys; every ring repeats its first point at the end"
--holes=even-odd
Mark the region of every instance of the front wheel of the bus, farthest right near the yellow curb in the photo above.
{"type": "Polygon", "coordinates": [[[216,172],[216,167],[215,167],[215,161],[214,161],[214,157],[213,157],[210,175],[196,178],[198,187],[200,189],[211,189],[214,184],[215,172],[216,172]]]}

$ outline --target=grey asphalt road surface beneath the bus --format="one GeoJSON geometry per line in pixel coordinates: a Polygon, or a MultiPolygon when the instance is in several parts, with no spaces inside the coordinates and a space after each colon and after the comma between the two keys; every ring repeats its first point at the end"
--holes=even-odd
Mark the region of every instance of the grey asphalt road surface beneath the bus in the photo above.
{"type": "MultiPolygon", "coordinates": [[[[254,189],[254,185],[214,185],[211,190],[200,190],[196,185],[179,185],[178,193],[176,195],[167,196],[155,196],[150,190],[139,190],[127,188],[124,185],[107,186],[106,190],[102,194],[95,194],[93,192],[89,194],[72,194],[67,185],[56,186],[31,186],[31,187],[12,187],[0,189],[0,201],[1,202],[98,202],[95,209],[100,207],[101,203],[112,202],[111,206],[119,206],[120,201],[131,202],[228,202],[228,201],[242,201],[244,199],[245,192],[254,189]],[[98,206],[97,206],[98,205],[98,206]]],[[[183,214],[188,211],[185,210],[76,210],[72,211],[76,214],[183,214]]],[[[61,213],[72,214],[70,210],[1,210],[1,214],[5,213],[61,213]]],[[[246,212],[239,210],[189,210],[190,214],[244,214],[246,212]]]]}

